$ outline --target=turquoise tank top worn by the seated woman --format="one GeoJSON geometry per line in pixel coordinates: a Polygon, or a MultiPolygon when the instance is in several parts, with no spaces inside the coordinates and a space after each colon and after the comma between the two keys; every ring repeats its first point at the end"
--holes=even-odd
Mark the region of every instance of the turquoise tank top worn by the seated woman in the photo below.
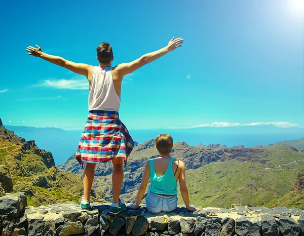
{"type": "Polygon", "coordinates": [[[150,159],[150,181],[148,189],[151,192],[158,194],[166,195],[175,195],[177,194],[177,181],[174,178],[173,173],[173,161],[174,158],[170,156],[170,161],[167,167],[165,174],[161,177],[158,177],[155,173],[154,168],[154,159],[150,159]]]}

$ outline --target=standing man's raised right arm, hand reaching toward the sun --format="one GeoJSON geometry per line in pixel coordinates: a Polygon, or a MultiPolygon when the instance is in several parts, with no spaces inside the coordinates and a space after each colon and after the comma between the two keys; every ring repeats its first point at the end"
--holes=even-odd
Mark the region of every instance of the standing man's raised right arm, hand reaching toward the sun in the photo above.
{"type": "Polygon", "coordinates": [[[172,40],[169,41],[166,47],[155,52],[147,53],[132,62],[122,63],[117,66],[117,69],[121,77],[123,77],[124,75],[132,73],[134,70],[137,70],[141,66],[150,63],[152,61],[155,61],[156,59],[164,56],[168,52],[172,52],[174,49],[181,47],[182,43],[183,43],[183,38],[179,37],[174,39],[173,37],[172,40]]]}

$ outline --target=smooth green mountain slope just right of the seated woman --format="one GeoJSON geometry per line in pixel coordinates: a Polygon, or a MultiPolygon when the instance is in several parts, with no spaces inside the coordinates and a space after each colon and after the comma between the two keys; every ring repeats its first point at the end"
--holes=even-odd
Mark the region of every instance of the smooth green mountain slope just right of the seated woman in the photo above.
{"type": "Polygon", "coordinates": [[[268,205],[291,189],[296,176],[295,170],[266,169],[257,162],[239,161],[215,162],[186,172],[192,203],[223,208],[234,203],[268,205]]]}

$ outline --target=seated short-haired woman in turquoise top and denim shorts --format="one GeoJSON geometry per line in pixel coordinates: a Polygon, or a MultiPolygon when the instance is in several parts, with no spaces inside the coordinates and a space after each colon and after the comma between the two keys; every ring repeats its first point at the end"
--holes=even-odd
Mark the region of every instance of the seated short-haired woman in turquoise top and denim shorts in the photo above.
{"type": "Polygon", "coordinates": [[[186,208],[189,211],[200,211],[200,209],[189,205],[184,163],[170,156],[173,147],[172,137],[168,134],[160,134],[155,140],[155,145],[160,156],[146,162],[142,181],[137,192],[136,204],[129,206],[129,208],[136,209],[139,207],[150,179],[149,192],[145,198],[148,211],[152,213],[174,211],[177,207],[178,180],[186,208]]]}

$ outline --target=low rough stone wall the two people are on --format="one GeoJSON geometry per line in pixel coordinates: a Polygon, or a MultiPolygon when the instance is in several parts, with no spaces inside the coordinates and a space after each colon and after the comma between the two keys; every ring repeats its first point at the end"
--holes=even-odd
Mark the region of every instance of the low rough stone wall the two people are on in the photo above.
{"type": "Polygon", "coordinates": [[[0,198],[0,234],[6,235],[146,235],[227,236],[303,235],[304,211],[297,208],[235,206],[203,208],[188,212],[151,214],[145,207],[110,215],[109,204],[92,204],[81,212],[73,202],[49,206],[26,206],[24,193],[0,198]]]}

